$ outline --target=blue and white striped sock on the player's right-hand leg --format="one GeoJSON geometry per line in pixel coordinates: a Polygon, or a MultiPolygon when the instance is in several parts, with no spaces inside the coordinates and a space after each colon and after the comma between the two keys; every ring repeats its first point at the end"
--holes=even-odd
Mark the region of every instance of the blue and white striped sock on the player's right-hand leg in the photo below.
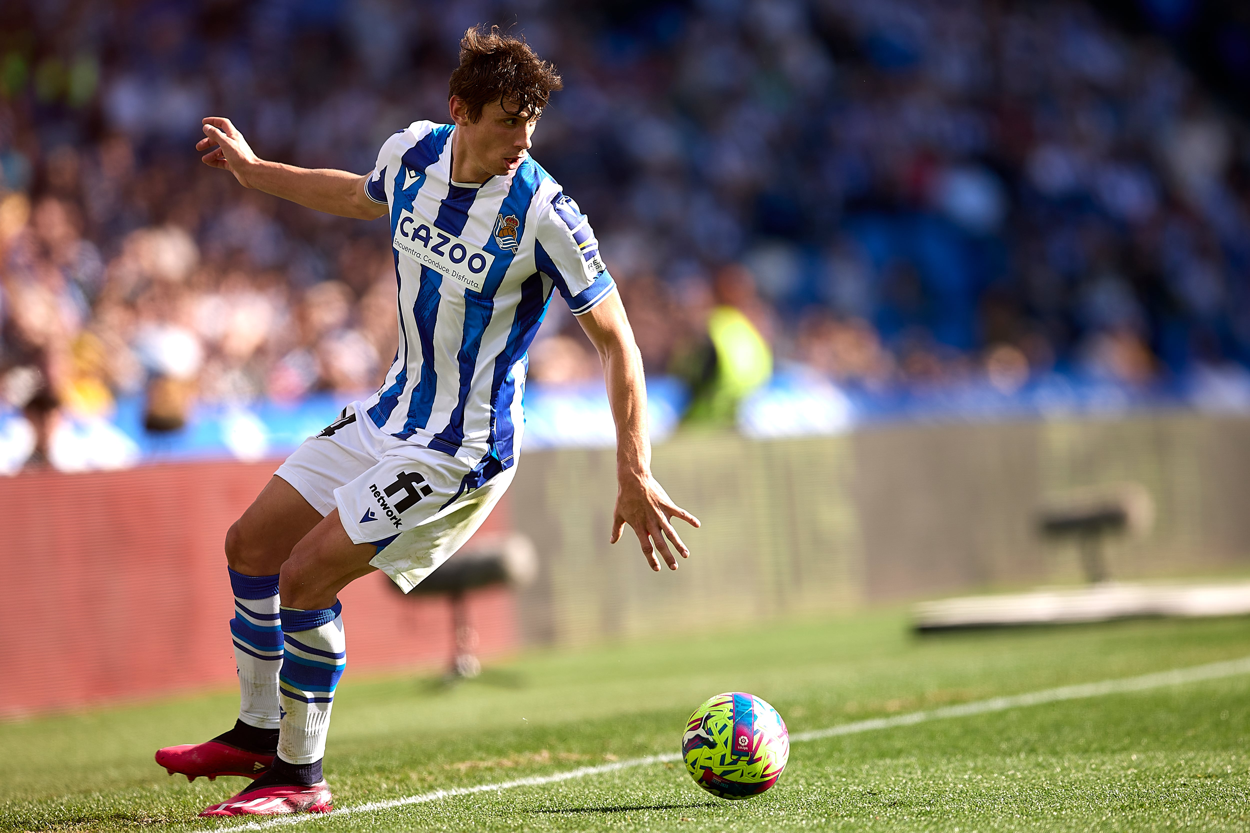
{"type": "Polygon", "coordinates": [[[348,664],[342,604],[321,611],[281,608],[285,656],[278,693],[282,706],[278,756],[288,763],[314,763],[325,756],[334,689],[348,664]]]}

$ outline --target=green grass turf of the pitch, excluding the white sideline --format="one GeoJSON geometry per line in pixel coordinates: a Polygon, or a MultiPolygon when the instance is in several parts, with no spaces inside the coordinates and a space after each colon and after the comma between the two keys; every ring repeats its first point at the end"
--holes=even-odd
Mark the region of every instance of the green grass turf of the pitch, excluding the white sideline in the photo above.
{"type": "MultiPolygon", "coordinates": [[[[901,616],[532,653],[444,688],[348,676],[326,773],[351,807],[670,753],[706,697],[750,691],[791,732],[1250,654],[1244,619],[916,638],[901,616]]],[[[299,831],[1142,831],[1250,828],[1250,677],[795,744],[748,802],[678,764],[491,791],[299,831]]],[[[195,814],[244,783],[189,784],[159,746],[230,724],[229,694],[0,724],[2,829],[225,829],[195,814]]],[[[281,828],[286,829],[286,828],[281,828]]]]}

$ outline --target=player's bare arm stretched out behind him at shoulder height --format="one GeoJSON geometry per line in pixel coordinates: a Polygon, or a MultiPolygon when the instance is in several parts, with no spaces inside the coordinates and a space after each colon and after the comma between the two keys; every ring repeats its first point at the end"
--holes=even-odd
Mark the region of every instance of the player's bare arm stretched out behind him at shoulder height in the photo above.
{"type": "Polygon", "coordinates": [[[202,120],[204,139],[195,149],[208,151],[201,161],[209,167],[220,167],[234,174],[246,189],[299,202],[302,206],[340,217],[376,220],[386,214],[386,206],[374,202],[365,194],[369,175],[329,169],[310,170],[269,162],[252,152],[248,140],[229,119],[209,116],[202,120]]]}

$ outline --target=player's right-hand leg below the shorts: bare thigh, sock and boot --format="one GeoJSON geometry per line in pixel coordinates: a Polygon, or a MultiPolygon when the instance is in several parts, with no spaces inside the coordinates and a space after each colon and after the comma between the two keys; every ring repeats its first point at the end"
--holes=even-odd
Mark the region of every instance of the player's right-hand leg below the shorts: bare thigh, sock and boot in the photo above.
{"type": "Polygon", "coordinates": [[[325,812],[330,791],[321,776],[325,739],[339,677],[346,666],[339,591],[376,569],[378,547],[354,543],[338,510],[318,523],[281,567],[285,642],[279,696],[281,733],[272,767],[234,798],[202,816],[325,812]]]}

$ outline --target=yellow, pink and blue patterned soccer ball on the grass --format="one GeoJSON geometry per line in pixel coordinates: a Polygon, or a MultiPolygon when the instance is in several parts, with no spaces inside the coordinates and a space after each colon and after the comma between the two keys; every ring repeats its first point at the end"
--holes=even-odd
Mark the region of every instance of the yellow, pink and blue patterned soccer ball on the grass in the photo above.
{"type": "Polygon", "coordinates": [[[790,733],[776,709],[754,694],[716,694],[695,709],[681,736],[695,783],[721,798],[759,796],[790,758],[790,733]]]}

